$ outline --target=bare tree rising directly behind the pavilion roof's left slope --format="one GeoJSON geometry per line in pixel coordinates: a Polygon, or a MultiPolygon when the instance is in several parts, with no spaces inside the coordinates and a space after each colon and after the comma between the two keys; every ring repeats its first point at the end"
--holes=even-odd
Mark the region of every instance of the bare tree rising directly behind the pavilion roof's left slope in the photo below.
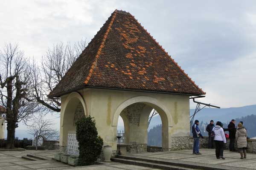
{"type": "Polygon", "coordinates": [[[41,59],[41,65],[35,61],[30,66],[32,86],[34,88],[33,97],[38,103],[44,105],[48,111],[61,111],[59,99],[48,99],[47,95],[61,81],[73,62],[79,57],[86,47],[86,40],[76,42],[74,45],[62,42],[53,45],[45,56],[41,59]]]}

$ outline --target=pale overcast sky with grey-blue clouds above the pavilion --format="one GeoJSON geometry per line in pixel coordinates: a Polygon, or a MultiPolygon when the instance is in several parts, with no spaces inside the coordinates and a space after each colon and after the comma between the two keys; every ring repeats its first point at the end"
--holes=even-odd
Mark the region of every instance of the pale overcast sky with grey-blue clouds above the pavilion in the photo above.
{"type": "MultiPolygon", "coordinates": [[[[0,47],[38,60],[58,42],[91,40],[115,9],[129,11],[222,108],[256,104],[256,1],[1,0],[0,47]]],[[[191,108],[195,107],[191,105],[191,108]]]]}

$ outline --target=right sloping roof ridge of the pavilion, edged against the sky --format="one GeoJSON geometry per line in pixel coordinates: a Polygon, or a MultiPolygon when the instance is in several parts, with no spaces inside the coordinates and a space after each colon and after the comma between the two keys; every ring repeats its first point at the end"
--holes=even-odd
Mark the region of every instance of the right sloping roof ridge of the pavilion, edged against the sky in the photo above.
{"type": "Polygon", "coordinates": [[[172,62],[175,63],[175,65],[176,65],[176,66],[180,69],[180,71],[192,82],[192,84],[195,85],[195,87],[197,87],[198,89],[200,89],[204,94],[206,94],[206,92],[204,92],[204,91],[202,90],[202,88],[199,88],[198,85],[196,85],[195,82],[192,81],[191,77],[189,77],[188,74],[186,74],[186,73],[184,72],[184,70],[181,69],[181,67],[178,65],[178,63],[175,62],[175,60],[168,54],[168,52],[165,51],[165,49],[162,47],[162,45],[160,45],[160,44],[156,41],[156,39],[154,39],[154,37],[151,36],[151,34],[139,23],[139,21],[134,17],[134,15],[132,15],[130,12],[127,12],[127,13],[130,14],[130,15],[134,18],[134,20],[144,29],[144,31],[145,31],[145,32],[151,37],[151,39],[163,50],[163,52],[164,52],[167,56],[169,56],[169,57],[172,59],[172,62]]]}

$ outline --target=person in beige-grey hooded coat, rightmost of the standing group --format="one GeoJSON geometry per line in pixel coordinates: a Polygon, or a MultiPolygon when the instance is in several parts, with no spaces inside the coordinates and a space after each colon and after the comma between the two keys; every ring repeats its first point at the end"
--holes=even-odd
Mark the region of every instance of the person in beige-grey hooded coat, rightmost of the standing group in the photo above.
{"type": "Polygon", "coordinates": [[[236,143],[241,155],[240,159],[246,159],[246,148],[247,148],[247,131],[241,124],[238,124],[238,128],[236,130],[236,143]]]}

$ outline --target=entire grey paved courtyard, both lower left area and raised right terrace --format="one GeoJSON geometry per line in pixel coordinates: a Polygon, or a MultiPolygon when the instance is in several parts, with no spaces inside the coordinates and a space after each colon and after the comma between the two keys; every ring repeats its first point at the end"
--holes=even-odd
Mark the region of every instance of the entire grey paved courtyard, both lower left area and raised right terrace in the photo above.
{"type": "MultiPolygon", "coordinates": [[[[156,170],[148,167],[140,167],[129,164],[110,162],[103,165],[93,165],[87,167],[72,167],[58,161],[52,160],[57,151],[5,151],[0,152],[0,170],[156,170]],[[30,161],[21,158],[26,154],[43,156],[47,160],[30,161]]],[[[247,159],[241,160],[239,153],[224,151],[225,160],[215,158],[215,150],[201,149],[202,155],[193,155],[191,150],[178,150],[157,153],[137,153],[128,154],[145,159],[161,161],[186,162],[188,164],[202,164],[210,167],[226,167],[227,169],[256,169],[256,154],[247,154],[247,159]]]]}

